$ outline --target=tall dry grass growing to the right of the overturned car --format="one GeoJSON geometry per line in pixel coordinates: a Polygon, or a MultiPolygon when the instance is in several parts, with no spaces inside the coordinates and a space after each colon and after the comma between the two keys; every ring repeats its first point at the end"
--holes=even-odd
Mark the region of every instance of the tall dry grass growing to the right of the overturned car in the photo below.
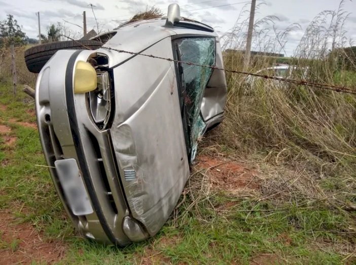
{"type": "MultiPolygon", "coordinates": [[[[307,80],[356,89],[356,72],[346,71],[337,62],[340,48],[350,43],[345,30],[347,17],[341,1],[338,10],[321,12],[310,22],[291,58],[291,64],[308,68],[307,80]]],[[[254,47],[283,52],[289,32],[298,25],[292,24],[284,32],[266,30],[273,28],[268,26],[273,19],[276,18],[257,21],[254,35],[261,44],[254,47]]],[[[237,21],[223,37],[225,47],[243,50],[246,23],[237,21]]],[[[242,70],[241,52],[225,53],[224,59],[226,69],[242,70]]],[[[255,56],[249,71],[269,66],[270,59],[255,56]]],[[[302,79],[298,71],[290,78],[302,79]]],[[[332,180],[333,185],[341,183],[343,192],[348,193],[342,200],[355,203],[356,96],[254,80],[254,86],[249,87],[245,76],[227,73],[228,101],[218,143],[240,155],[259,157],[269,164],[300,172],[305,170],[314,179],[332,180]]]]}

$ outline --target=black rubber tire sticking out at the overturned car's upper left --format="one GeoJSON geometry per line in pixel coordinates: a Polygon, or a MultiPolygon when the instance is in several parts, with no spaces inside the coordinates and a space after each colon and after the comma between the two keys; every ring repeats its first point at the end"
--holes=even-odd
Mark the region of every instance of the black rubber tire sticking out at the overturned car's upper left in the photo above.
{"type": "Polygon", "coordinates": [[[40,73],[46,62],[58,50],[96,50],[102,46],[101,42],[90,40],[51,42],[33,46],[25,51],[25,62],[28,71],[40,73]]]}

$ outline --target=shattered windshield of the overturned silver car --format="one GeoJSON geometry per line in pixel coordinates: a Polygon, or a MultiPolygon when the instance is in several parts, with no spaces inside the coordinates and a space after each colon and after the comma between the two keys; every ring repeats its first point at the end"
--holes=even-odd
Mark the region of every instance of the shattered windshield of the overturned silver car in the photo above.
{"type": "MultiPolygon", "coordinates": [[[[215,65],[215,38],[190,37],[174,41],[177,59],[200,65],[215,65]]],[[[202,97],[212,73],[211,68],[179,63],[177,65],[181,111],[185,126],[187,151],[194,159],[197,140],[205,128],[200,116],[202,97]]]]}

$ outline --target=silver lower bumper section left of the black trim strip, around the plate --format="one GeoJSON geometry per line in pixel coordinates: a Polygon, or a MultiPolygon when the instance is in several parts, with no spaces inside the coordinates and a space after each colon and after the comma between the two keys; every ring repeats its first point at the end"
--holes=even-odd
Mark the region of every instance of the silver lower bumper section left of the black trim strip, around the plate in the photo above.
{"type": "MultiPolygon", "coordinates": [[[[38,77],[35,89],[35,108],[39,134],[47,164],[51,167],[50,173],[55,188],[70,219],[83,235],[108,242],[109,239],[98,221],[96,211],[86,216],[76,216],[70,210],[54,167],[54,162],[63,158],[74,158],[80,161],[75,148],[80,143],[76,143],[72,137],[65,100],[66,67],[69,58],[74,53],[75,51],[58,51],[47,62],[38,77]]],[[[81,177],[83,178],[83,175],[81,177]]],[[[84,179],[83,182],[85,183],[84,179]]]]}

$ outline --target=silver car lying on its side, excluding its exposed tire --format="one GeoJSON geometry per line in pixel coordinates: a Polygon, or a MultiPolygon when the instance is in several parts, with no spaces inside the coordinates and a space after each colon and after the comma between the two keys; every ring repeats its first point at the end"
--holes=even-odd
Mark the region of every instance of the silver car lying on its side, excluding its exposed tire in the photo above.
{"type": "Polygon", "coordinates": [[[87,238],[124,246],[154,236],[173,211],[198,138],[223,119],[226,80],[213,69],[223,68],[216,32],[177,5],[100,39],[46,60],[35,107],[68,216],[87,238]]]}

